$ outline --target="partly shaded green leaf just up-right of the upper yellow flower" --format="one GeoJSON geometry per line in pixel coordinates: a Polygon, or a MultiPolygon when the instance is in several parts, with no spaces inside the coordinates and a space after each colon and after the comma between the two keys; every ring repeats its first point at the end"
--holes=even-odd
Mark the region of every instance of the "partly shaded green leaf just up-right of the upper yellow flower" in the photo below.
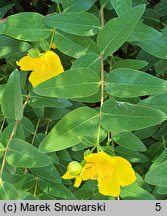
{"type": "Polygon", "coordinates": [[[74,58],[80,58],[89,53],[99,54],[97,44],[89,37],[81,37],[56,31],[54,40],[57,48],[61,52],[74,58]]]}

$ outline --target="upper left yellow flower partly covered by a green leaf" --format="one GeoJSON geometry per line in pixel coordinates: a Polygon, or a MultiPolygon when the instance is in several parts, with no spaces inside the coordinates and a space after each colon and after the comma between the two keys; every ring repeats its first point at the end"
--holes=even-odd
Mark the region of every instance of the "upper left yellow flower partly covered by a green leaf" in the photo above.
{"type": "Polygon", "coordinates": [[[20,70],[32,71],[29,81],[33,87],[64,71],[59,56],[52,51],[40,53],[36,57],[28,54],[16,64],[20,66],[20,70]]]}

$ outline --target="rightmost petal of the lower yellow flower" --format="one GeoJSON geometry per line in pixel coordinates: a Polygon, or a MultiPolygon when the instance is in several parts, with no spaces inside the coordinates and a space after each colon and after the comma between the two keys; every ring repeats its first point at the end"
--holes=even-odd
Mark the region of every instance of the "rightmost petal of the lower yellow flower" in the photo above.
{"type": "Polygon", "coordinates": [[[136,180],[135,172],[131,164],[122,157],[115,157],[115,170],[117,171],[117,179],[121,186],[132,184],[136,180]]]}

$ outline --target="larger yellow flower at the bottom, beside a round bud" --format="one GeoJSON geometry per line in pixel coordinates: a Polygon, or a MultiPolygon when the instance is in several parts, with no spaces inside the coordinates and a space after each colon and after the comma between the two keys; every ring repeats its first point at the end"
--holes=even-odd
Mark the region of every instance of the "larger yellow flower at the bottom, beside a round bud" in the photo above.
{"type": "Polygon", "coordinates": [[[75,178],[74,187],[79,187],[82,180],[97,180],[101,194],[117,197],[121,186],[128,186],[136,180],[131,164],[122,157],[98,152],[85,156],[84,160],[85,165],[79,175],[72,176],[67,171],[62,176],[63,179],[75,178]]]}

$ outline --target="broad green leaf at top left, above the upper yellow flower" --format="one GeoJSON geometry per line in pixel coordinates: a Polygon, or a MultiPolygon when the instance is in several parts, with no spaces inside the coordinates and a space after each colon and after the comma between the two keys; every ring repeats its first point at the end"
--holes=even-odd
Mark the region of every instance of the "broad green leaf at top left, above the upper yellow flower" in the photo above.
{"type": "Polygon", "coordinates": [[[22,12],[8,17],[3,34],[18,40],[40,41],[47,38],[51,29],[44,23],[44,16],[35,12],[22,12]]]}

